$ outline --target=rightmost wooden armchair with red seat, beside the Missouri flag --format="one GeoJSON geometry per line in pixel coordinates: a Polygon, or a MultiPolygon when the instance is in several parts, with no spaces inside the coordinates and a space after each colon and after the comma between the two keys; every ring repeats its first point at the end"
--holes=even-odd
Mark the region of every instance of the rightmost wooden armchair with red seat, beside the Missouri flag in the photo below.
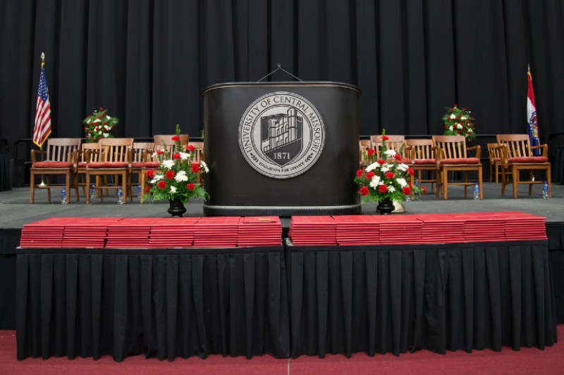
{"type": "Polygon", "coordinates": [[[551,163],[548,162],[548,146],[530,146],[527,134],[498,134],[498,145],[502,147],[501,153],[501,196],[505,196],[505,185],[513,184],[513,198],[517,198],[517,185],[529,184],[529,196],[532,195],[533,184],[543,184],[543,181],[534,181],[534,171],[544,170],[548,182],[548,196],[552,196],[551,163]],[[541,156],[533,156],[532,150],[540,148],[541,156]],[[529,171],[529,179],[520,181],[520,172],[529,171]],[[511,181],[508,181],[508,173],[511,181]]]}

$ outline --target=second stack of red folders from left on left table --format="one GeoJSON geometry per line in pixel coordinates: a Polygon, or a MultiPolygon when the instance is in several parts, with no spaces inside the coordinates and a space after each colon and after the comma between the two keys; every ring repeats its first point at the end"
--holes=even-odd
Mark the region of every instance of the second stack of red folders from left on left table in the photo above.
{"type": "Polygon", "coordinates": [[[63,248],[103,248],[109,224],[123,217],[75,217],[65,224],[63,248]]]}

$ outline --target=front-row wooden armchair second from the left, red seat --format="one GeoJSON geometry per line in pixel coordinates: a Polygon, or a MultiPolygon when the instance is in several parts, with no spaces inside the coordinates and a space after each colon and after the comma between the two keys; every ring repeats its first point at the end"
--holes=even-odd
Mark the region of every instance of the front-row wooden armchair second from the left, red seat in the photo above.
{"type": "MultiPolygon", "coordinates": [[[[119,176],[121,177],[123,203],[125,203],[128,196],[128,184],[130,184],[131,179],[133,138],[100,139],[99,146],[102,151],[102,160],[99,162],[91,162],[90,152],[87,151],[86,184],[90,184],[90,177],[92,176],[119,176]]],[[[97,184],[95,189],[97,191],[116,189],[117,191],[118,179],[116,178],[114,186],[97,184]]],[[[103,200],[104,194],[100,194],[100,198],[103,200]]],[[[129,194],[129,200],[133,200],[131,194],[129,194]]],[[[86,195],[86,203],[90,203],[90,194],[86,195]]]]}

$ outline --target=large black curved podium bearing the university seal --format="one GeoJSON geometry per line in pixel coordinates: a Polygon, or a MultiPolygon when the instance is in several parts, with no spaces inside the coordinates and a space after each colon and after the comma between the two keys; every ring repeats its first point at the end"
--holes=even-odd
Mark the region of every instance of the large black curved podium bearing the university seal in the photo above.
{"type": "Polygon", "coordinates": [[[360,90],[338,82],[204,89],[206,215],[360,213],[360,90]]]}

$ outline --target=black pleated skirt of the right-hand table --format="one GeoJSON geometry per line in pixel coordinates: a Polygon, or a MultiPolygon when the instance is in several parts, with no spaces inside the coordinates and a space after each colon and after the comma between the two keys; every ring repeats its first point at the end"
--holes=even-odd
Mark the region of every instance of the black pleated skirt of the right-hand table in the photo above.
{"type": "Polygon", "coordinates": [[[547,241],[286,246],[291,356],[556,343],[547,241]]]}

